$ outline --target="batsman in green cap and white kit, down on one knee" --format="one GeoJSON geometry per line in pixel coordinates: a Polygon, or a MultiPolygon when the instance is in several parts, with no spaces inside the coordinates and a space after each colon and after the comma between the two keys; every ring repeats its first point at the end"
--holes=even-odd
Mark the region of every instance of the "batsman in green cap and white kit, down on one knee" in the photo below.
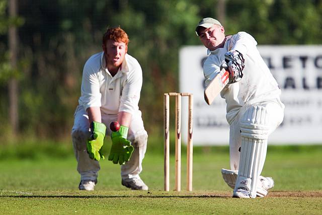
{"type": "Polygon", "coordinates": [[[264,197],[274,186],[274,180],[261,173],[268,137],[284,117],[281,90],[250,34],[226,36],[224,27],[212,18],[202,19],[195,31],[208,48],[203,64],[206,85],[222,68],[229,73],[228,84],[220,92],[230,128],[231,170],[222,169],[223,178],[233,188],[232,197],[264,197]]]}

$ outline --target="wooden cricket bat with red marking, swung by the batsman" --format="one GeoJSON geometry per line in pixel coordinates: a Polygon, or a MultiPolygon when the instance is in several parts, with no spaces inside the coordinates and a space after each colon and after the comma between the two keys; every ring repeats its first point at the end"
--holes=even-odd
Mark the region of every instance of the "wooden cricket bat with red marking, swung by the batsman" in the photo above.
{"type": "Polygon", "coordinates": [[[225,68],[222,68],[204,91],[205,101],[208,105],[211,105],[211,103],[218,96],[220,91],[228,84],[228,81],[229,73],[225,68]]]}

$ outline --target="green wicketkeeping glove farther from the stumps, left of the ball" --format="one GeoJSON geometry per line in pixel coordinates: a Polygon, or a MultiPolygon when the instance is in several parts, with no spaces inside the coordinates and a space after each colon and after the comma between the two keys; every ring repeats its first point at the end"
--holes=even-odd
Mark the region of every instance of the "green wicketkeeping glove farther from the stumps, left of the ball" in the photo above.
{"type": "Polygon", "coordinates": [[[101,149],[104,144],[106,126],[101,122],[91,123],[91,136],[87,141],[87,152],[91,159],[96,161],[104,160],[101,149]]]}

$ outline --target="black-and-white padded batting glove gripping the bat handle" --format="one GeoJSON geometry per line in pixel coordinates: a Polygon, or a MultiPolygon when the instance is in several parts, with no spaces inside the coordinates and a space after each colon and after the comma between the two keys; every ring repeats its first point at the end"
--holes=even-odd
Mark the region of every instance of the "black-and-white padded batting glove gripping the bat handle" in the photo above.
{"type": "Polygon", "coordinates": [[[231,50],[225,53],[225,65],[229,71],[229,82],[228,84],[232,84],[240,81],[243,78],[243,69],[245,67],[245,59],[243,54],[241,54],[237,50],[231,50]]]}

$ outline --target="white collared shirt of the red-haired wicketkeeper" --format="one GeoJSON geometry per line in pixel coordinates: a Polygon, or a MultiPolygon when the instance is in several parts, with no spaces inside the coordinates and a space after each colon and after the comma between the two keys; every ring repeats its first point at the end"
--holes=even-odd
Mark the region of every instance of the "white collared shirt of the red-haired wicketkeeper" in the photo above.
{"type": "Polygon", "coordinates": [[[112,77],[107,69],[104,52],[92,55],[84,65],[82,91],[78,102],[86,110],[101,107],[102,114],[120,111],[135,114],[142,88],[142,69],[129,54],[117,74],[112,77]]]}

